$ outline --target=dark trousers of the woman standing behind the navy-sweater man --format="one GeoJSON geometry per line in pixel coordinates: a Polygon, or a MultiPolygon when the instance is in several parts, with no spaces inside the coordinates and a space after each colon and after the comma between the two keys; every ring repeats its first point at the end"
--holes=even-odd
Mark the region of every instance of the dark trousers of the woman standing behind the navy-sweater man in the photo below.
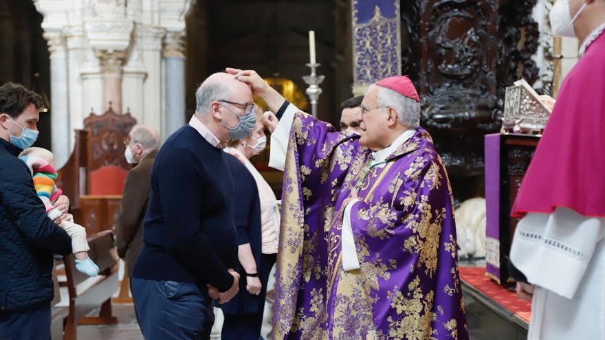
{"type": "MultiPolygon", "coordinates": [[[[277,260],[277,254],[261,254],[261,269],[259,278],[263,288],[261,298],[265,301],[267,296],[267,281],[269,274],[277,260]]],[[[239,293],[241,294],[241,292],[239,293]]],[[[261,304],[261,310],[256,313],[245,313],[228,315],[224,314],[225,322],[221,330],[222,340],[259,340],[261,337],[261,326],[263,325],[263,311],[265,304],[261,304]]]]}

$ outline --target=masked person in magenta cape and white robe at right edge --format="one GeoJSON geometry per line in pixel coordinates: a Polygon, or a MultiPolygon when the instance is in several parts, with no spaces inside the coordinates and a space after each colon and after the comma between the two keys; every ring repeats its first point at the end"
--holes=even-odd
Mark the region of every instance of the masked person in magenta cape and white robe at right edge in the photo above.
{"type": "Polygon", "coordinates": [[[549,15],[580,59],[521,184],[510,258],[518,295],[533,293],[529,339],[605,339],[605,0],[559,0],[549,15]]]}

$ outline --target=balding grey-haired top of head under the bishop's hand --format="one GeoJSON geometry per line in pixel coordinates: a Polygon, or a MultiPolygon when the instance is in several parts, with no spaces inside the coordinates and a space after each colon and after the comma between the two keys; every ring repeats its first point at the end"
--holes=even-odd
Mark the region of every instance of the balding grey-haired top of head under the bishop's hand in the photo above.
{"type": "Polygon", "coordinates": [[[236,80],[231,74],[219,72],[210,75],[195,91],[197,107],[195,113],[210,112],[214,101],[227,100],[237,103],[252,102],[252,91],[248,84],[236,80]]]}

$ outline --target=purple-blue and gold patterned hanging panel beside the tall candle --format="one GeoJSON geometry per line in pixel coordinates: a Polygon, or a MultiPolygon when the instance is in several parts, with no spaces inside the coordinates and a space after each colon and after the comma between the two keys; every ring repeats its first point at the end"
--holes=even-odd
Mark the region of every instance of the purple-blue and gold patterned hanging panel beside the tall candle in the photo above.
{"type": "Polygon", "coordinates": [[[401,74],[399,0],[352,0],[353,95],[401,74]]]}

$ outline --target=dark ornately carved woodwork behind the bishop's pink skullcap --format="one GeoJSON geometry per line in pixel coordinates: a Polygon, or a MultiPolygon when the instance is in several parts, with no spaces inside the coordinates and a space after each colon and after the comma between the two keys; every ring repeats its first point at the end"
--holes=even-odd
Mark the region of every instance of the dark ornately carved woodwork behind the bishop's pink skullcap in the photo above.
{"type": "Polygon", "coordinates": [[[504,91],[538,79],[536,0],[401,1],[402,74],[415,81],[422,124],[448,170],[483,174],[483,135],[499,130],[504,91]]]}

